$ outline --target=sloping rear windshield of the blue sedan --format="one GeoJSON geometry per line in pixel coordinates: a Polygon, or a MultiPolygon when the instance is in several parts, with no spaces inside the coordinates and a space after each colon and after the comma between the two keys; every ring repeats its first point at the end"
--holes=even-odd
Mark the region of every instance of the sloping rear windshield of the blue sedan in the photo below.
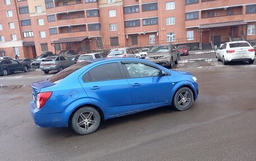
{"type": "Polygon", "coordinates": [[[72,65],[68,68],[65,68],[65,70],[62,70],[62,71],[58,72],[56,75],[49,78],[48,81],[53,82],[53,83],[57,83],[58,81],[60,81],[62,79],[65,79],[65,77],[67,77],[71,73],[79,70],[80,68],[83,68],[86,65],[89,65],[90,63],[92,63],[92,62],[83,61],[83,62],[77,63],[75,65],[72,65]]]}

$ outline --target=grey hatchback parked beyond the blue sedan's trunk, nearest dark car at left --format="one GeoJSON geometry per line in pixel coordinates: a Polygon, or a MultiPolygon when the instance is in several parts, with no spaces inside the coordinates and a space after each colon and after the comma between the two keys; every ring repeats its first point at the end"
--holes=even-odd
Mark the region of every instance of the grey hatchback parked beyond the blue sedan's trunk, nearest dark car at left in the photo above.
{"type": "Polygon", "coordinates": [[[71,61],[71,59],[66,56],[47,57],[40,63],[40,70],[44,71],[45,74],[48,74],[49,71],[52,70],[57,70],[59,72],[64,68],[74,65],[74,63],[74,61],[71,61]]]}

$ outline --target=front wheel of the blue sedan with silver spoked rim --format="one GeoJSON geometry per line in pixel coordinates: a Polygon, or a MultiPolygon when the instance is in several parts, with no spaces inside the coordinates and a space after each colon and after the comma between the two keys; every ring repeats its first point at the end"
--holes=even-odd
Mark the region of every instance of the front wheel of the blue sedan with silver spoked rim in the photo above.
{"type": "Polygon", "coordinates": [[[176,91],[173,97],[172,108],[177,111],[185,111],[191,107],[193,100],[193,92],[189,88],[181,88],[176,91]]]}

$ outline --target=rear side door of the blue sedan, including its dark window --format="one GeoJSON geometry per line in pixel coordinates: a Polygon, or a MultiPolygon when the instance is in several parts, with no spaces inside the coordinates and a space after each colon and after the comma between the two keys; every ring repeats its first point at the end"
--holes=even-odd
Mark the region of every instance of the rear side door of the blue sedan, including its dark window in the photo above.
{"type": "Polygon", "coordinates": [[[102,105],[108,117],[131,112],[130,86],[120,62],[93,66],[81,82],[88,97],[102,105]]]}

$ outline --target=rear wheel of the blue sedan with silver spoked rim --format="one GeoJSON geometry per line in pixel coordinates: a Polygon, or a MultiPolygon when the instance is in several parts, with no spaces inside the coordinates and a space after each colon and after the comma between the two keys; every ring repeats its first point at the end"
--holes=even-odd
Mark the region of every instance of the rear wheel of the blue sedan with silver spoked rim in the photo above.
{"type": "Polygon", "coordinates": [[[92,107],[83,107],[77,110],[71,119],[72,129],[80,135],[91,134],[100,125],[100,114],[92,107]]]}

